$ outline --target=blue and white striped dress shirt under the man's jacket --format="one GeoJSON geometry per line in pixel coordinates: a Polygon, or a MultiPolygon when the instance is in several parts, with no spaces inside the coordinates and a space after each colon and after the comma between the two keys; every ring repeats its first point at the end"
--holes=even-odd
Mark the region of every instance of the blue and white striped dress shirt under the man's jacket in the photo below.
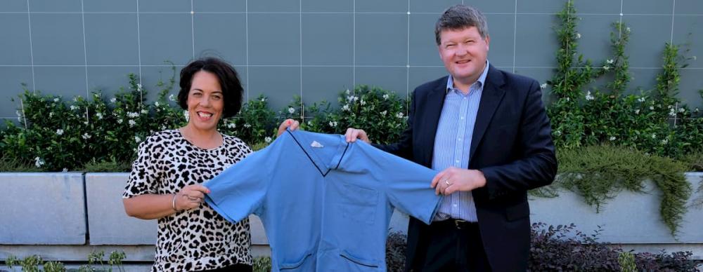
{"type": "MultiPolygon", "coordinates": [[[[471,85],[469,93],[464,94],[449,76],[446,82],[446,96],[441,117],[437,124],[437,135],[434,137],[434,154],[432,156],[432,169],[442,171],[450,167],[469,167],[469,151],[471,137],[476,123],[476,114],[479,111],[479,102],[483,93],[489,62],[479,79],[471,85]]],[[[470,191],[456,191],[445,196],[439,205],[439,211],[434,221],[446,219],[463,219],[477,222],[476,206],[470,191]]]]}

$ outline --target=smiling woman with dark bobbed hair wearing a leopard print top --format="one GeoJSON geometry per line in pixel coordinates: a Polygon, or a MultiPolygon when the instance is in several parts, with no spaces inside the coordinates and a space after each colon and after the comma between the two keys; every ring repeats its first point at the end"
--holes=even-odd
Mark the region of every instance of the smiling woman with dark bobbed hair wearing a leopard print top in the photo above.
{"type": "MultiPolygon", "coordinates": [[[[249,221],[227,222],[203,203],[212,179],[251,153],[237,137],[217,131],[220,118],[242,107],[237,72],[215,59],[195,60],[181,70],[179,105],[188,124],[156,132],[139,145],[122,194],[127,215],[158,219],[152,271],[252,271],[249,221]]],[[[295,129],[297,121],[279,127],[295,129]]]]}

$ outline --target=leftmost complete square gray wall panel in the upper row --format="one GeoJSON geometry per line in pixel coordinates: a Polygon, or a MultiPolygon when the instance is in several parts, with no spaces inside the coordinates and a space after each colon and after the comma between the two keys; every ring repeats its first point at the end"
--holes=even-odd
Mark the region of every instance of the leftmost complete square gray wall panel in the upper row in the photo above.
{"type": "Polygon", "coordinates": [[[84,65],[80,14],[32,14],[34,65],[84,65]]]}

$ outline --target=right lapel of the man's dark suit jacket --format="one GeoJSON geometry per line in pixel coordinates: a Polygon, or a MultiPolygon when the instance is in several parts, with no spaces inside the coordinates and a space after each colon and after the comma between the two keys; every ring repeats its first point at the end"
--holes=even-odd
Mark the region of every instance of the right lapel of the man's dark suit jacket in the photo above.
{"type": "MultiPolygon", "coordinates": [[[[476,148],[481,142],[486,128],[488,128],[488,125],[491,123],[491,118],[493,118],[493,115],[496,113],[498,105],[501,104],[503,96],[505,96],[505,90],[501,88],[503,83],[503,74],[501,74],[498,69],[494,68],[493,65],[490,65],[488,75],[486,76],[486,86],[484,86],[481,102],[479,102],[479,111],[476,115],[474,132],[471,137],[469,164],[472,164],[471,162],[476,153],[476,148]]],[[[435,124],[435,127],[436,126],[435,124]]]]}

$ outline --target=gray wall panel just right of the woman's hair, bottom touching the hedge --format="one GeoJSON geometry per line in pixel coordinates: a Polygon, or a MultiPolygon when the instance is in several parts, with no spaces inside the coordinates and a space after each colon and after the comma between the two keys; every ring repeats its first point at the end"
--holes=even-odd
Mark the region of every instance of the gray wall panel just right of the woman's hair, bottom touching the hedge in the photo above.
{"type": "Polygon", "coordinates": [[[249,81],[250,97],[263,93],[274,111],[288,105],[293,95],[300,95],[300,67],[249,67],[249,81]]]}

